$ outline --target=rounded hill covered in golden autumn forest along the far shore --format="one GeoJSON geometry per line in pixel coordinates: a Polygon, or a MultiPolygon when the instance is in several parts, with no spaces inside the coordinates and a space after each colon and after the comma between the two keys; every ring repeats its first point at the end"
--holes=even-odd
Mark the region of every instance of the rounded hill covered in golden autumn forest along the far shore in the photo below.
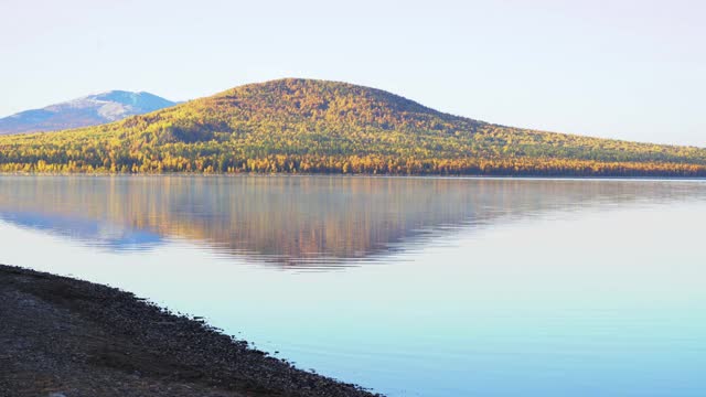
{"type": "Polygon", "coordinates": [[[706,149],[503,127],[378,89],[279,79],[109,125],[0,137],[0,171],[706,176],[706,149]]]}

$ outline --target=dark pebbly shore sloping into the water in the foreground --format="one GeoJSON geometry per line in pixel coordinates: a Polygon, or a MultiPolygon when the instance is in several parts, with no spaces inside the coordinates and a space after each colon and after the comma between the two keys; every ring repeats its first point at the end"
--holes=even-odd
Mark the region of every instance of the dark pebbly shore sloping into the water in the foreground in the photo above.
{"type": "Polygon", "coordinates": [[[373,396],[131,293],[2,265],[0,369],[1,397],[373,396]]]}

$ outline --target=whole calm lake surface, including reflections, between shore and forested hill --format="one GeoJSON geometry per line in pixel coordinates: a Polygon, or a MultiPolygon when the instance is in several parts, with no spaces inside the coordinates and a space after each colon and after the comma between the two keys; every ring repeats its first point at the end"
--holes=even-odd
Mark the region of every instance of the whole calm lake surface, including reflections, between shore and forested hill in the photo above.
{"type": "Polygon", "coordinates": [[[0,262],[388,396],[703,396],[706,182],[0,176],[0,262]]]}

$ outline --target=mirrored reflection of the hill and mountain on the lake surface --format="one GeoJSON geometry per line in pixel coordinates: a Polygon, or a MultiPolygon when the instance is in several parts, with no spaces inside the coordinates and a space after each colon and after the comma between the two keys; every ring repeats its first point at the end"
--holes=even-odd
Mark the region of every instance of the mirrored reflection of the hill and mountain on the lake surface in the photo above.
{"type": "Polygon", "coordinates": [[[688,181],[2,176],[0,218],[116,250],[185,238],[250,261],[329,267],[461,227],[705,191],[688,181]]]}

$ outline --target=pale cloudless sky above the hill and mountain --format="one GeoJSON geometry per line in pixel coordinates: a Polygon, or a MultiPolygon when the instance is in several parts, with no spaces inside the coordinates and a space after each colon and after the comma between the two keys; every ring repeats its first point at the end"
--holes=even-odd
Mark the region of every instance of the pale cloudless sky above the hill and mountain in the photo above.
{"type": "Polygon", "coordinates": [[[685,0],[0,0],[0,117],[311,77],[507,126],[706,147],[705,20],[685,0]]]}

